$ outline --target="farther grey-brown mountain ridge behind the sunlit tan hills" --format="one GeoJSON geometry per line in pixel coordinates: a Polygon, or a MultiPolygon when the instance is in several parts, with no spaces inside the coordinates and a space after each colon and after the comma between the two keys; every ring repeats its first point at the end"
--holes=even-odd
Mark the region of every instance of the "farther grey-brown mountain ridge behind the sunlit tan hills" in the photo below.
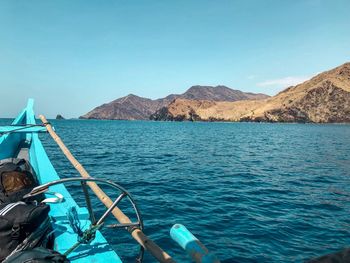
{"type": "Polygon", "coordinates": [[[158,109],[167,106],[176,98],[212,101],[237,101],[267,98],[264,94],[245,93],[225,86],[193,86],[183,94],[171,94],[151,100],[130,94],[110,103],[96,107],[81,119],[148,120],[158,109]]]}

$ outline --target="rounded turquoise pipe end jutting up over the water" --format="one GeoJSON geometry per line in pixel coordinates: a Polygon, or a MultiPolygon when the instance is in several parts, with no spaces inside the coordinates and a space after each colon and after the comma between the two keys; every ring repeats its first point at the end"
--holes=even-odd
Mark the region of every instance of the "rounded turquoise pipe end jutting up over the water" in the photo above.
{"type": "Polygon", "coordinates": [[[175,224],[170,229],[171,238],[197,263],[219,263],[220,260],[184,226],[175,224]]]}

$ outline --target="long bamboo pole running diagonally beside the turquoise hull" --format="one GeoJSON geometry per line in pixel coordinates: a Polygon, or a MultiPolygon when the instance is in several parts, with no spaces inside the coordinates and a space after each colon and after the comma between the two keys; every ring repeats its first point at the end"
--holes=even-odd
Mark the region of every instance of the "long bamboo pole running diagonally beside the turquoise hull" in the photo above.
{"type": "MultiPolygon", "coordinates": [[[[51,137],[58,144],[58,146],[61,148],[64,155],[71,162],[71,164],[74,166],[74,168],[80,173],[80,175],[82,177],[85,177],[85,178],[90,177],[90,175],[85,170],[85,168],[78,162],[77,159],[75,159],[73,154],[64,145],[61,138],[58,137],[56,132],[52,129],[51,124],[47,121],[45,116],[39,115],[39,118],[46,126],[46,129],[49,132],[49,134],[51,135],[51,137]]],[[[102,191],[102,189],[96,183],[88,182],[87,184],[89,185],[91,190],[96,194],[96,196],[101,200],[101,202],[107,208],[109,208],[113,204],[113,201],[102,191]]],[[[112,214],[121,224],[131,223],[131,220],[118,207],[115,207],[112,210],[112,214]]],[[[164,262],[164,263],[174,263],[175,262],[165,251],[163,251],[156,243],[154,243],[150,238],[148,238],[141,231],[141,229],[129,228],[129,232],[132,235],[132,237],[141,246],[143,246],[145,250],[148,250],[159,262],[164,262]]]]}

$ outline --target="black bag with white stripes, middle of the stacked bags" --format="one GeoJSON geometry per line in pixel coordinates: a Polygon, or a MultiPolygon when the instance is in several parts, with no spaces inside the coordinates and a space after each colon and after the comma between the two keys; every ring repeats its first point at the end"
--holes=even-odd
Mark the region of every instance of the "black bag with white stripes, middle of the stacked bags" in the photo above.
{"type": "Polygon", "coordinates": [[[46,204],[9,203],[0,205],[0,262],[15,249],[33,248],[48,242],[50,230],[46,204]]]}

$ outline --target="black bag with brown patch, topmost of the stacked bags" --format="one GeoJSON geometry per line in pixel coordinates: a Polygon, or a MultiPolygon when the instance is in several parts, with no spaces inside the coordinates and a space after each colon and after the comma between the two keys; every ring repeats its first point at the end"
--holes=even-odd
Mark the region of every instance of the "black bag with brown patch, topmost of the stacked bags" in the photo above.
{"type": "MultiPolygon", "coordinates": [[[[25,159],[10,158],[0,161],[0,204],[21,201],[23,196],[38,186],[36,174],[25,159]]],[[[35,198],[41,201],[43,195],[35,198]]]]}

